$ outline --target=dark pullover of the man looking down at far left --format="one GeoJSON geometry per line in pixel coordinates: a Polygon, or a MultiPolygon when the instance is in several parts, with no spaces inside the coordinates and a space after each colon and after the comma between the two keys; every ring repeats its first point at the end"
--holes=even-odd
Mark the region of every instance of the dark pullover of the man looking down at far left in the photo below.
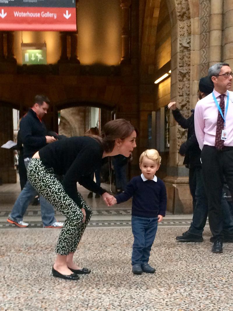
{"type": "Polygon", "coordinates": [[[24,148],[24,158],[31,158],[34,153],[46,145],[47,129],[36,113],[29,109],[20,122],[20,135],[24,148]]]}

